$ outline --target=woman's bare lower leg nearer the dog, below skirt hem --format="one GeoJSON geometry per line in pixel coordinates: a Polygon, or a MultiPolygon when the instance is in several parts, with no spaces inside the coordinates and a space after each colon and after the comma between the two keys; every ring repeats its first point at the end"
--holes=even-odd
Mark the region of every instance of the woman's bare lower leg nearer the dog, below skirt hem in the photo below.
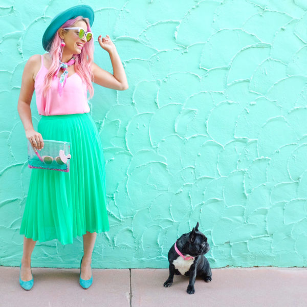
{"type": "Polygon", "coordinates": [[[83,259],[81,264],[81,279],[90,279],[92,276],[92,253],[95,245],[97,233],[86,231],[86,234],[83,234],[83,259]]]}

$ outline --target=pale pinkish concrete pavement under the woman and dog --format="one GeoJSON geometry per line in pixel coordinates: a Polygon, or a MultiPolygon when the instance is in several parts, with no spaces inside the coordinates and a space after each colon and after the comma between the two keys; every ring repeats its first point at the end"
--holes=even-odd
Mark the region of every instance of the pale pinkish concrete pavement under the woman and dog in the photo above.
{"type": "Polygon", "coordinates": [[[78,269],[32,268],[34,286],[19,286],[19,268],[0,267],[0,307],[151,307],[151,306],[307,306],[307,268],[223,268],[212,281],[174,276],[164,288],[167,269],[93,269],[93,284],[79,285],[78,269]]]}

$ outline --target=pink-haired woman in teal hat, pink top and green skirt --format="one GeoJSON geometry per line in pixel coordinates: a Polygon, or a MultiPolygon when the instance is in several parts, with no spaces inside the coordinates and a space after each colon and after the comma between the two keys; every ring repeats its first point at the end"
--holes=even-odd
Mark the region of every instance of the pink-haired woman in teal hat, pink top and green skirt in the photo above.
{"type": "Polygon", "coordinates": [[[79,282],[84,289],[89,288],[96,235],[109,229],[102,145],[89,114],[87,91],[92,97],[92,81],[120,91],[128,84],[108,35],[100,35],[98,42],[109,53],[114,74],[93,62],[93,21],[94,11],[85,5],[58,14],[42,39],[49,53],[33,55],[25,65],[18,113],[27,139],[35,150],[43,148],[44,139],[70,142],[72,156],[69,172],[32,169],[20,226],[25,237],[19,283],[25,290],[33,286],[31,254],[36,241],[57,238],[62,244],[71,244],[78,235],[83,235],[84,249],[79,282]],[[41,115],[37,131],[30,109],[34,89],[41,115]]]}

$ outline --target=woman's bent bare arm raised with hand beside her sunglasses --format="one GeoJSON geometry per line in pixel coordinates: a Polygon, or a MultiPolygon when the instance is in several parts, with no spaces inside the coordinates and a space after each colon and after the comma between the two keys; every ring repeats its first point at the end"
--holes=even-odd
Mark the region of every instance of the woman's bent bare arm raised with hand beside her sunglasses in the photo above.
{"type": "Polygon", "coordinates": [[[117,53],[113,41],[109,38],[108,35],[106,35],[106,37],[103,38],[101,38],[100,35],[98,37],[98,42],[101,48],[107,51],[110,56],[113,67],[113,75],[100,68],[97,64],[93,63],[92,72],[94,75],[94,82],[113,90],[118,90],[118,91],[127,90],[128,82],[125,70],[123,68],[123,64],[120,60],[120,57],[117,53]]]}

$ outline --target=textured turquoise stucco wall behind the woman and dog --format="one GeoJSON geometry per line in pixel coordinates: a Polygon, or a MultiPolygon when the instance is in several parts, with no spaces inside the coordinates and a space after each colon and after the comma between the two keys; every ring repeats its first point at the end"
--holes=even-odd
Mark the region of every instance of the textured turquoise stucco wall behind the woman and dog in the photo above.
{"type": "MultiPolygon", "coordinates": [[[[85,3],[79,1],[78,4],[85,3]]],[[[0,0],[0,265],[19,265],[30,169],[21,73],[76,1],[0,0]],[[31,4],[32,3],[32,4],[31,4]]],[[[307,3],[87,1],[129,89],[95,86],[111,230],[93,266],[167,267],[197,221],[212,267],[307,266],[307,3]]],[[[95,61],[111,71],[95,42],[95,61]]],[[[39,121],[32,101],[35,127],[39,121]]],[[[82,238],[37,243],[34,266],[77,266],[82,238]]]]}

